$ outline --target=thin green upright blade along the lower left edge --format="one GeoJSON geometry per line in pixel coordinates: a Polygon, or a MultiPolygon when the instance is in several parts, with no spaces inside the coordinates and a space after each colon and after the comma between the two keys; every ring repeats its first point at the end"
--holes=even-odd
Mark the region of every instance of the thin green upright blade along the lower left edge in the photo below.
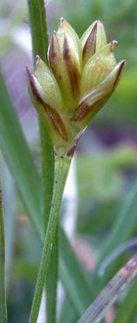
{"type": "Polygon", "coordinates": [[[0,322],[8,322],[5,298],[5,233],[0,192],[0,322]]]}

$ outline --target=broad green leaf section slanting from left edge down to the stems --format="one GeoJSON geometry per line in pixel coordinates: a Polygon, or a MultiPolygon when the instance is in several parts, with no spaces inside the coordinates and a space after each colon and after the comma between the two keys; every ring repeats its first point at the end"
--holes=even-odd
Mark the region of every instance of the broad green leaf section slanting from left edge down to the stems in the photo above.
{"type": "Polygon", "coordinates": [[[40,178],[0,73],[0,148],[18,185],[27,211],[42,237],[40,178]]]}

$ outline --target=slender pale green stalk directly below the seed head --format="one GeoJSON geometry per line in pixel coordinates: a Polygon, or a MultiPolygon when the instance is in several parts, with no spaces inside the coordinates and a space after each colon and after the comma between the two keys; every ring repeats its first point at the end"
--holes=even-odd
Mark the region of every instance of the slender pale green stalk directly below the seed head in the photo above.
{"type": "Polygon", "coordinates": [[[38,311],[40,308],[40,301],[42,297],[42,289],[43,289],[45,279],[47,278],[49,261],[51,259],[51,252],[52,252],[54,238],[55,238],[55,230],[57,229],[58,218],[60,214],[60,204],[62,201],[64,185],[66,183],[66,177],[69,172],[70,164],[71,164],[70,157],[55,158],[55,179],[54,179],[54,185],[53,185],[53,198],[52,198],[52,204],[51,204],[51,212],[49,216],[47,232],[45,235],[44,247],[42,250],[42,257],[40,261],[38,278],[36,281],[36,289],[34,292],[34,300],[32,303],[32,310],[30,313],[29,323],[36,323],[36,320],[38,318],[38,311]]]}

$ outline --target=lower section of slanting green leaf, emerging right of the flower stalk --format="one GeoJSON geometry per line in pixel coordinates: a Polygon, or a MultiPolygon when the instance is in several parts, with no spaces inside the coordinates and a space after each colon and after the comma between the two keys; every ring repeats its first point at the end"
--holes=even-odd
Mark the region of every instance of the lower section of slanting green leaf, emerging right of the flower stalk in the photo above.
{"type": "Polygon", "coordinates": [[[90,304],[93,292],[64,231],[60,234],[60,277],[71,305],[80,316],[90,304]]]}

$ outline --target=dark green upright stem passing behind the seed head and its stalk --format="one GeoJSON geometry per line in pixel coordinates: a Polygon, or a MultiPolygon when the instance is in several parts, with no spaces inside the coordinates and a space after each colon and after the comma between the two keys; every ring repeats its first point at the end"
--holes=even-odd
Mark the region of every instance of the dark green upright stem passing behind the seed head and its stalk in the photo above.
{"type": "MultiPolygon", "coordinates": [[[[46,22],[46,10],[43,0],[28,0],[29,21],[32,33],[32,48],[34,66],[36,55],[40,55],[42,60],[47,62],[48,34],[46,22]]],[[[53,144],[49,138],[49,133],[45,129],[42,120],[39,120],[40,144],[41,144],[41,168],[42,168],[42,215],[45,229],[49,220],[51,200],[53,194],[54,179],[54,153],[53,144]]],[[[53,246],[52,257],[47,275],[47,322],[55,322],[56,311],[56,290],[58,284],[58,229],[55,233],[55,246],[53,246]]]]}

